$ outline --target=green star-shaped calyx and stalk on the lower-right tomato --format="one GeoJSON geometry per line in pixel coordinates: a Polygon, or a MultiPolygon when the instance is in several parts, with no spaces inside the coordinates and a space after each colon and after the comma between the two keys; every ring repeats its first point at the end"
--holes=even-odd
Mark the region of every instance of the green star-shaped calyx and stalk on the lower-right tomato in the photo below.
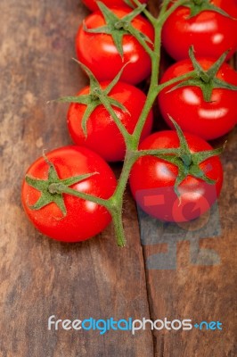
{"type": "Polygon", "coordinates": [[[207,172],[200,168],[200,163],[205,160],[222,154],[225,145],[213,150],[200,151],[198,153],[192,153],[189,145],[184,137],[184,133],[179,125],[173,118],[169,116],[169,119],[173,122],[176,133],[179,138],[179,147],[177,148],[167,148],[167,149],[151,149],[151,150],[140,150],[136,152],[137,157],[152,155],[166,162],[174,164],[178,168],[178,174],[176,176],[176,182],[174,190],[177,197],[180,197],[181,193],[179,191],[179,185],[187,178],[187,176],[192,176],[196,179],[201,179],[207,182],[209,185],[214,185],[215,180],[209,179],[207,172]]]}

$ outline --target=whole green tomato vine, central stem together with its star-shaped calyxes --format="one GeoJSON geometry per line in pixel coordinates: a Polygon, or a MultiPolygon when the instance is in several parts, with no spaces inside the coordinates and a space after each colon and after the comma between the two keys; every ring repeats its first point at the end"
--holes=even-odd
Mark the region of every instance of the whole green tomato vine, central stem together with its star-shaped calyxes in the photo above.
{"type": "MultiPolygon", "coordinates": [[[[26,177],[29,185],[36,187],[38,190],[42,192],[40,202],[37,202],[34,206],[30,207],[31,209],[40,209],[45,204],[50,202],[54,202],[58,204],[61,208],[62,213],[65,215],[65,207],[63,204],[62,194],[67,195],[75,195],[80,198],[83,198],[88,201],[92,201],[94,203],[100,204],[110,212],[112,217],[113,225],[115,228],[115,236],[116,241],[119,246],[126,245],[126,237],[123,228],[123,197],[127,187],[127,181],[129,179],[130,171],[135,163],[135,161],[144,155],[153,155],[167,162],[172,162],[178,168],[178,175],[176,178],[176,186],[175,191],[176,195],[179,196],[178,187],[183,182],[183,180],[188,176],[192,175],[196,178],[203,179],[209,184],[214,184],[215,182],[208,179],[205,173],[200,170],[200,162],[207,160],[208,157],[221,154],[223,151],[223,147],[204,151],[196,154],[192,154],[190,149],[186,143],[184,138],[184,134],[179,126],[176,124],[175,120],[173,123],[176,127],[177,135],[179,137],[180,146],[176,149],[164,149],[164,150],[138,150],[138,145],[140,142],[140,137],[143,131],[143,126],[145,120],[151,111],[151,107],[157,97],[159,92],[164,88],[176,84],[176,87],[182,87],[187,85],[195,85],[200,87],[204,99],[206,101],[209,100],[211,92],[215,87],[228,87],[233,90],[236,90],[237,87],[233,87],[221,81],[220,79],[216,79],[217,71],[220,65],[224,62],[226,54],[223,54],[219,60],[212,66],[208,71],[204,71],[201,69],[200,64],[196,61],[194,57],[194,51],[190,49],[190,57],[192,60],[192,64],[194,67],[194,71],[184,74],[183,76],[177,77],[176,79],[171,79],[166,83],[159,84],[159,62],[160,62],[160,47],[161,47],[161,29],[168,19],[170,14],[176,10],[177,7],[181,5],[194,6],[193,9],[197,7],[201,7],[200,3],[203,3],[204,8],[206,9],[208,6],[208,1],[200,2],[197,0],[187,1],[187,0],[177,0],[174,3],[170,4],[170,0],[164,0],[161,4],[159,16],[154,17],[147,9],[144,4],[140,4],[138,0],[134,0],[136,5],[135,9],[132,10],[125,18],[119,19],[108,9],[104,4],[98,2],[98,5],[104,15],[106,20],[106,25],[102,28],[98,29],[84,29],[88,32],[94,33],[107,33],[113,38],[115,45],[118,48],[118,52],[121,56],[123,56],[123,48],[122,48],[122,39],[126,34],[131,34],[134,36],[137,41],[143,46],[144,50],[151,57],[151,82],[150,87],[147,93],[147,98],[145,104],[143,106],[143,111],[140,115],[139,120],[135,126],[135,130],[133,134],[129,134],[127,129],[122,125],[119,118],[117,117],[116,112],[113,110],[114,107],[119,107],[121,110],[126,111],[127,109],[119,104],[119,102],[112,100],[109,97],[110,90],[116,85],[119,81],[122,71],[125,66],[119,71],[118,75],[115,79],[110,82],[110,85],[105,89],[102,89],[100,83],[97,79],[94,78],[93,73],[85,67],[82,63],[80,65],[86,71],[88,78],[90,80],[90,93],[88,95],[80,95],[80,96],[68,96],[64,98],[58,99],[60,102],[74,102],[79,104],[86,104],[86,112],[84,114],[84,118],[82,121],[82,129],[86,136],[86,122],[90,116],[90,114],[94,111],[94,109],[99,105],[103,104],[106,110],[110,113],[111,117],[117,124],[119,131],[124,137],[126,143],[126,154],[123,163],[123,168],[120,173],[118,185],[114,194],[108,199],[102,199],[100,197],[95,197],[93,195],[87,195],[85,193],[78,192],[69,186],[75,182],[79,182],[82,179],[85,179],[85,175],[81,177],[69,178],[60,180],[57,176],[57,172],[53,167],[52,162],[48,162],[45,158],[45,161],[49,165],[49,175],[48,179],[38,180],[31,177],[26,177]],[[205,4],[204,4],[205,3],[205,4]],[[139,13],[143,12],[147,19],[151,22],[154,28],[154,43],[151,44],[150,39],[143,36],[138,30],[134,29],[131,21],[135,18],[135,16],[139,13]]],[[[202,7],[203,7],[202,6],[202,7]]],[[[203,9],[201,8],[200,11],[203,9]]],[[[210,10],[210,9],[209,9],[210,10]]],[[[211,8],[213,11],[213,6],[211,8]]],[[[194,10],[193,10],[194,11],[194,10]]],[[[192,14],[193,15],[193,14],[192,14]]],[[[126,63],[127,65],[127,63],[126,63]]],[[[175,88],[176,88],[175,87],[175,88]]],[[[172,89],[173,90],[173,89],[172,89]]],[[[172,119],[171,119],[172,120],[172,119]]],[[[96,174],[96,172],[88,174],[86,177],[96,174]]]]}

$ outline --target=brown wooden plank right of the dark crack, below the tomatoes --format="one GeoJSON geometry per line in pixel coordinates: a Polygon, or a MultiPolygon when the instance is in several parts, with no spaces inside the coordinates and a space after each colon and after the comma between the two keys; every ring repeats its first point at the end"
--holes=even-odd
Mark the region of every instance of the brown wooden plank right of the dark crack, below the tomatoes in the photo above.
{"type": "MultiPolygon", "coordinates": [[[[151,11],[157,12],[157,4],[154,2],[151,2],[151,11]]],[[[147,237],[148,243],[143,246],[143,252],[147,264],[146,278],[151,320],[191,319],[192,324],[201,321],[220,321],[223,328],[215,331],[210,329],[205,331],[204,327],[201,330],[192,328],[192,331],[166,329],[153,331],[156,357],[233,357],[237,354],[235,327],[237,262],[234,254],[237,249],[236,138],[237,129],[214,143],[217,146],[223,144],[225,139],[228,140],[225,153],[222,155],[225,181],[218,201],[222,230],[220,235],[215,235],[214,230],[210,229],[211,237],[200,234],[199,246],[197,245],[195,249],[196,257],[191,253],[192,243],[182,237],[177,238],[175,245],[171,245],[172,238],[167,238],[168,243],[164,240],[163,243],[149,244],[149,238],[151,235],[154,236],[156,226],[153,226],[152,231],[152,220],[150,223],[141,223],[150,224],[148,233],[150,237],[147,237]],[[215,258],[214,265],[204,265],[208,257],[203,259],[203,253],[215,258]],[[196,263],[193,262],[194,258],[196,263]],[[167,267],[163,265],[162,268],[160,263],[162,260],[163,264],[167,262],[167,267]],[[172,264],[173,269],[171,269],[172,264]]],[[[159,237],[158,240],[160,242],[162,239],[159,237]]]]}

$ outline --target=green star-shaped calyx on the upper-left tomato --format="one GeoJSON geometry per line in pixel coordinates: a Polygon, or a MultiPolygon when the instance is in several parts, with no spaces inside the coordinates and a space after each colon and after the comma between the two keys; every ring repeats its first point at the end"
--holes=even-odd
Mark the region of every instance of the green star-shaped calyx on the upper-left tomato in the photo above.
{"type": "Polygon", "coordinates": [[[116,46],[119,55],[123,58],[123,37],[124,35],[132,35],[136,37],[140,42],[146,44],[151,43],[151,39],[143,34],[143,32],[135,29],[131,22],[135,19],[137,15],[143,12],[146,4],[141,4],[137,6],[135,10],[129,12],[122,19],[120,19],[114,12],[112,12],[105,4],[102,2],[97,2],[102,15],[105,20],[105,25],[96,29],[88,29],[86,23],[83,23],[83,29],[88,33],[99,33],[110,35],[113,39],[114,45],[116,46]]]}

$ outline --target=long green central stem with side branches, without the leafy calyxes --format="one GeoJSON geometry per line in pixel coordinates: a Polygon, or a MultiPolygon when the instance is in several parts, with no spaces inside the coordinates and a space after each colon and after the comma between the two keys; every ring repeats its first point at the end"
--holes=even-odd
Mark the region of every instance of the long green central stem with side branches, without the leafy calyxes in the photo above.
{"type": "MultiPolygon", "coordinates": [[[[111,117],[117,124],[122,136],[124,137],[125,143],[126,143],[126,155],[125,155],[125,160],[123,164],[123,169],[121,171],[120,177],[119,177],[119,182],[118,186],[114,192],[114,194],[108,199],[104,200],[100,197],[95,197],[93,195],[87,195],[82,192],[77,192],[72,188],[65,187],[61,185],[59,187],[61,193],[64,194],[69,194],[69,195],[75,195],[80,198],[83,198],[85,200],[100,204],[104,206],[105,208],[108,209],[108,211],[111,214],[114,228],[115,228],[115,234],[116,234],[116,240],[117,244],[119,246],[125,246],[126,245],[126,238],[125,238],[125,232],[123,228],[123,220],[122,220],[122,209],[123,209],[123,197],[124,193],[127,187],[127,181],[129,179],[129,174],[130,171],[135,163],[135,161],[146,154],[154,154],[154,155],[162,155],[164,156],[165,154],[175,154],[174,150],[175,149],[170,149],[170,152],[168,149],[166,150],[165,153],[162,152],[162,150],[154,150],[154,151],[138,151],[138,145],[140,142],[140,137],[143,131],[143,126],[144,123],[147,119],[147,116],[149,115],[149,112],[151,111],[151,107],[159,94],[159,92],[165,88],[168,87],[177,81],[180,81],[182,79],[190,78],[193,75],[193,72],[187,73],[184,76],[181,76],[176,79],[171,79],[166,83],[163,84],[158,84],[159,81],[159,62],[160,62],[160,47],[161,47],[161,29],[164,24],[164,22],[167,20],[168,16],[176,10],[178,6],[181,4],[184,4],[186,0],[178,0],[176,1],[175,4],[173,4],[170,8],[168,8],[168,0],[165,0],[161,6],[160,10],[160,15],[158,19],[154,18],[151,14],[149,14],[146,10],[144,10],[144,13],[147,15],[148,19],[151,21],[151,24],[154,26],[154,48],[153,50],[151,47],[145,42],[145,40],[140,37],[140,36],[135,36],[137,40],[140,42],[140,44],[143,46],[143,48],[146,50],[146,52],[151,56],[151,84],[148,90],[147,98],[145,101],[145,104],[143,106],[143,111],[141,112],[141,115],[139,117],[139,120],[135,126],[135,130],[133,134],[129,134],[127,132],[127,129],[123,126],[119,118],[117,117],[116,113],[114,112],[112,106],[110,105],[109,101],[107,100],[106,96],[100,95],[100,100],[104,107],[107,109],[108,112],[110,112],[111,117]],[[168,10],[167,10],[168,8],[168,10]]],[[[139,1],[135,0],[135,4],[139,5],[139,1]]],[[[175,150],[177,151],[177,149],[175,150]]]]}

